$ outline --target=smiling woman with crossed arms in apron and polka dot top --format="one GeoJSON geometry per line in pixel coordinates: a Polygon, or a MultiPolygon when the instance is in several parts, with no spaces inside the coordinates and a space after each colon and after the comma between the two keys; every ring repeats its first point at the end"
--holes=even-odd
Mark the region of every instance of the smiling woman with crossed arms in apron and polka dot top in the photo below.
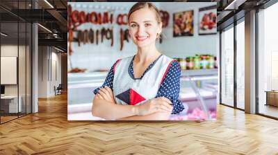
{"type": "Polygon", "coordinates": [[[158,9],[139,2],[129,10],[129,33],[137,54],[117,60],[104,84],[95,89],[92,115],[106,120],[168,120],[184,109],[179,97],[178,62],[161,55],[156,39],[162,22],[158,9]]]}

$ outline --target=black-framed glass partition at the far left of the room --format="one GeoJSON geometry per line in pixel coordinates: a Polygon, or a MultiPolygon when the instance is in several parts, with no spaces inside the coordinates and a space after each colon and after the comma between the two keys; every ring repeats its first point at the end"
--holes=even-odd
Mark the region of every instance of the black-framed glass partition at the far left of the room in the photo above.
{"type": "MultiPolygon", "coordinates": [[[[31,1],[0,1],[13,11],[27,9],[31,1]]],[[[0,77],[4,88],[0,100],[0,123],[31,113],[31,24],[0,9],[0,77]],[[8,61],[7,61],[8,60],[8,61]],[[15,69],[8,77],[6,66],[15,69]],[[11,80],[13,79],[13,80],[11,80]]],[[[12,72],[13,70],[11,70],[12,72]]]]}

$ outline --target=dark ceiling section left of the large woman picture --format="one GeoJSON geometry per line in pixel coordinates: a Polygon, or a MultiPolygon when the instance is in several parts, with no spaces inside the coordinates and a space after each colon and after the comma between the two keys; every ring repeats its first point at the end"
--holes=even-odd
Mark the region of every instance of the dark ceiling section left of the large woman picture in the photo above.
{"type": "Polygon", "coordinates": [[[41,25],[38,26],[39,46],[49,46],[51,42],[51,46],[67,51],[67,0],[1,0],[0,19],[1,32],[8,34],[1,42],[13,44],[17,39],[21,42],[31,31],[25,30],[25,23],[37,22],[41,25]]]}

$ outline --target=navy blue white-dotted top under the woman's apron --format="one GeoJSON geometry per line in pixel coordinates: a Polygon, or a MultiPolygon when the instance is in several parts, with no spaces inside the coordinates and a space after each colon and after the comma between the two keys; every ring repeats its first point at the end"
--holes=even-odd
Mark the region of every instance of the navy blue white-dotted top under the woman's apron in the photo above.
{"type": "MultiPolygon", "coordinates": [[[[160,56],[161,57],[161,56],[160,56]]],[[[129,65],[129,75],[131,75],[131,78],[133,79],[142,79],[142,77],[149,71],[149,69],[152,69],[152,66],[156,63],[156,61],[159,59],[159,57],[150,64],[146,71],[142,74],[140,78],[134,78],[133,74],[133,60],[131,61],[131,64],[129,65]]],[[[97,94],[99,89],[104,88],[104,86],[109,86],[113,90],[113,78],[114,78],[114,72],[113,69],[115,67],[115,64],[111,67],[110,71],[108,72],[108,75],[106,77],[106,80],[104,81],[104,84],[100,86],[99,88],[95,89],[94,93],[97,94]]],[[[169,69],[167,70],[167,73],[165,75],[165,78],[161,84],[161,87],[158,89],[158,93],[156,95],[156,98],[158,97],[165,97],[172,101],[173,103],[173,111],[172,114],[177,114],[181,111],[183,111],[184,107],[181,103],[181,100],[179,100],[179,90],[180,90],[180,77],[181,77],[181,68],[179,66],[179,62],[173,61],[172,64],[170,64],[169,69]]]]}

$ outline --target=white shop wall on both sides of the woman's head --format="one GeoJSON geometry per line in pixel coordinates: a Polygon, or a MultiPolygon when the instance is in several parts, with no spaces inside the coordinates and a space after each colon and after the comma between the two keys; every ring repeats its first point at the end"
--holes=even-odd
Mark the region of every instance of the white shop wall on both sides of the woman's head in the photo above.
{"type": "MultiPolygon", "coordinates": [[[[88,69],[89,71],[95,71],[99,69],[110,69],[113,63],[122,57],[128,57],[136,54],[136,46],[129,42],[124,41],[124,48],[120,51],[120,28],[127,28],[127,26],[118,26],[115,24],[117,15],[120,13],[128,13],[129,8],[134,4],[132,3],[70,3],[72,10],[83,10],[84,12],[104,12],[106,7],[120,8],[120,10],[114,11],[114,21],[111,24],[102,24],[101,26],[92,25],[90,23],[79,26],[78,30],[93,30],[100,29],[102,27],[111,28],[113,26],[114,35],[114,46],[111,47],[111,41],[105,40],[104,43],[96,44],[85,44],[81,43],[78,46],[77,42],[72,42],[73,54],[68,56],[72,67],[78,67],[79,69],[88,69]],[[84,5],[83,5],[84,4],[84,5]],[[85,5],[86,4],[86,5],[85,5]],[[99,9],[92,8],[99,6],[99,9]],[[101,9],[101,7],[104,7],[101,9]],[[122,9],[123,10],[122,10],[122,9]]],[[[216,3],[154,3],[159,9],[167,10],[170,13],[169,25],[164,28],[163,33],[167,39],[163,39],[162,44],[157,44],[158,49],[165,55],[170,57],[186,57],[188,55],[195,54],[213,54],[216,55],[216,35],[198,35],[198,12],[199,8],[205,6],[213,6],[216,3]],[[172,37],[172,13],[180,12],[185,10],[195,10],[194,12],[194,36],[192,37],[172,37]]],[[[68,65],[70,69],[70,63],[68,65]]]]}

